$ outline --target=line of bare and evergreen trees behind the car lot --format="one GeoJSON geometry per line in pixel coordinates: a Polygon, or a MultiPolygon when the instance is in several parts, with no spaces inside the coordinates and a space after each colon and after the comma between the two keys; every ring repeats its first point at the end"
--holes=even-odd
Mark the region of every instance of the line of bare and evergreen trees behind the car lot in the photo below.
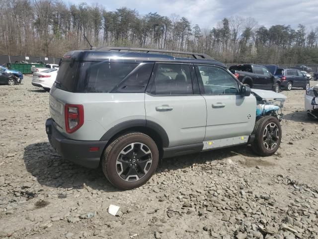
{"type": "MultiPolygon", "coordinates": [[[[213,12],[211,13],[213,14],[213,12]]],[[[291,16],[292,17],[292,16],[291,16]]],[[[92,45],[206,53],[224,63],[318,63],[318,27],[272,25],[225,17],[201,28],[183,16],[61,0],[0,0],[0,54],[61,57],[92,45]]]]}

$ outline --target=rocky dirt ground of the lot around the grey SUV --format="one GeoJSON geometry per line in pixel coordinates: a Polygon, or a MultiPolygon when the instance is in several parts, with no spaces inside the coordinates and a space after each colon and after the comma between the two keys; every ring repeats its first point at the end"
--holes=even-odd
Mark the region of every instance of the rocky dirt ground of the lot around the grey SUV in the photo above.
{"type": "Polygon", "coordinates": [[[283,92],[274,156],[235,147],[166,159],[146,185],[119,191],[50,146],[49,93],[30,77],[0,86],[0,238],[318,239],[318,122],[304,93],[283,92]]]}

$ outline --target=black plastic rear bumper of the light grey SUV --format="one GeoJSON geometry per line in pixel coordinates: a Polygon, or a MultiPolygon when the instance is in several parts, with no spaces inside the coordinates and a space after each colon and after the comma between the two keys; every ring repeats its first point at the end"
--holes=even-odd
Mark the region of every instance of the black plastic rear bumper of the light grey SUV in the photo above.
{"type": "Polygon", "coordinates": [[[47,119],[46,132],[53,148],[65,159],[87,168],[97,168],[104,147],[108,141],[81,141],[69,139],[54,126],[53,120],[47,119]],[[97,151],[89,151],[90,147],[99,147],[97,151]]]}

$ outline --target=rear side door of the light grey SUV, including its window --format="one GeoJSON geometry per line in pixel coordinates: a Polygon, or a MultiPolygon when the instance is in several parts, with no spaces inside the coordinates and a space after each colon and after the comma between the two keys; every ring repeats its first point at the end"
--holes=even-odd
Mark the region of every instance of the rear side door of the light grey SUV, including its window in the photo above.
{"type": "Polygon", "coordinates": [[[167,133],[169,147],[202,142],[206,103],[192,64],[156,63],[145,95],[146,120],[167,133]]]}

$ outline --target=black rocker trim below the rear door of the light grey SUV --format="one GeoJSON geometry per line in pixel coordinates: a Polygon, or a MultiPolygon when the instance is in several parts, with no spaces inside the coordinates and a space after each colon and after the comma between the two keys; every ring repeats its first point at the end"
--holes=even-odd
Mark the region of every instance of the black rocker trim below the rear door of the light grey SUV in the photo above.
{"type": "Polygon", "coordinates": [[[199,153],[202,152],[202,150],[203,142],[163,148],[163,158],[170,158],[191,153],[199,153]]]}

